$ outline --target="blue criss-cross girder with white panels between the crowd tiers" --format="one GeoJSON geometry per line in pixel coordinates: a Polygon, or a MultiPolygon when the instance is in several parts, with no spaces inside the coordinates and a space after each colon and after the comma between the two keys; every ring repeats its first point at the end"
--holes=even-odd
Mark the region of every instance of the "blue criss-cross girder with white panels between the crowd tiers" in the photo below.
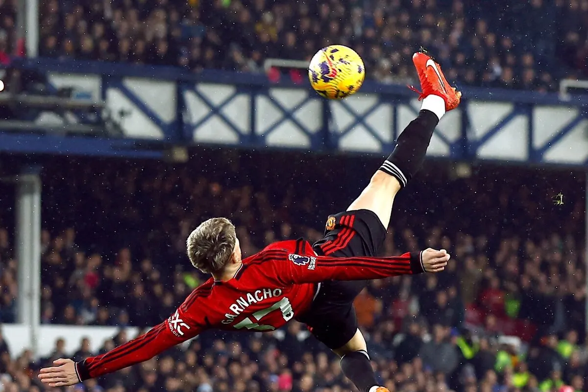
{"type": "MultiPolygon", "coordinates": [[[[144,153],[154,145],[194,143],[379,153],[393,147],[420,106],[406,86],[370,81],[348,99],[328,101],[306,81],[272,83],[262,74],[57,59],[15,59],[13,66],[43,73],[54,88],[104,102],[102,116],[121,129],[120,140],[133,140],[118,149],[144,153]]],[[[562,100],[556,93],[462,91],[463,103],[440,123],[430,156],[588,163],[588,95],[562,100]]],[[[1,149],[26,148],[17,140],[25,136],[9,136],[0,135],[1,149]]],[[[39,143],[41,149],[51,146],[39,143]]]]}

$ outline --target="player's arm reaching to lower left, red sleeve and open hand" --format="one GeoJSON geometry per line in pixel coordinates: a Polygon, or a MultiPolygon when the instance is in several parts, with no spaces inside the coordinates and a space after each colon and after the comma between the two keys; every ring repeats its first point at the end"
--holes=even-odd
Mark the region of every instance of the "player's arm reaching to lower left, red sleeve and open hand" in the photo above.
{"type": "MultiPolygon", "coordinates": [[[[149,360],[170,347],[195,337],[200,332],[196,327],[188,327],[188,329],[184,327],[184,330],[181,330],[181,325],[176,323],[179,317],[176,319],[173,317],[163,321],[148,333],[100,356],[89,357],[81,362],[58,359],[54,361],[55,366],[42,368],[39,378],[49,387],[71,386],[89,378],[113,373],[149,360]]],[[[179,319],[179,321],[182,320],[179,319]]]]}

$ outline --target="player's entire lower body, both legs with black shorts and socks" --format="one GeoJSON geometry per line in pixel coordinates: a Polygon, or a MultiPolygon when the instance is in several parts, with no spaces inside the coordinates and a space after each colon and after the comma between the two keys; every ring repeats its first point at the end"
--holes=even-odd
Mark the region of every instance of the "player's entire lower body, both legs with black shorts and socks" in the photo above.
{"type": "MultiPolygon", "coordinates": [[[[318,254],[334,257],[377,254],[386,236],[394,196],[422,165],[439,119],[446,110],[459,105],[460,95],[445,81],[439,65],[425,53],[416,53],[413,62],[423,89],[422,110],[399,136],[395,150],[348,212],[329,216],[325,237],[313,245],[318,254]]],[[[353,309],[353,300],[364,287],[364,282],[323,282],[312,308],[299,320],[308,324],[318,340],[342,356],[343,371],[360,391],[383,392],[385,388],[376,386],[353,309]]]]}

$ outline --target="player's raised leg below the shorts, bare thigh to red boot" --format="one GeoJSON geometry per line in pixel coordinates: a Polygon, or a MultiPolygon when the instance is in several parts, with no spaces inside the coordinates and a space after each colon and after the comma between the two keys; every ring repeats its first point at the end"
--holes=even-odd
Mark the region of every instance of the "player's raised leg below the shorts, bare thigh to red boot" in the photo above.
{"type": "Polygon", "coordinates": [[[400,133],[392,154],[348,208],[348,211],[372,211],[386,228],[390,223],[396,193],[420,169],[437,123],[446,110],[455,109],[459,105],[461,98],[461,93],[447,83],[439,64],[426,52],[415,53],[413,63],[423,90],[419,97],[423,100],[419,115],[400,133]]]}

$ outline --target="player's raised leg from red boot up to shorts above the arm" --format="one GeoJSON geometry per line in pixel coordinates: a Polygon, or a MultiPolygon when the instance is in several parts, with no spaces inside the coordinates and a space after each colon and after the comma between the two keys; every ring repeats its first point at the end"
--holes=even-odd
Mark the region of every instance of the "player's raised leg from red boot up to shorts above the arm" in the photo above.
{"type": "Polygon", "coordinates": [[[461,93],[445,80],[439,64],[425,52],[415,53],[413,63],[419,73],[423,89],[419,99],[423,103],[416,119],[412,120],[396,140],[392,154],[372,176],[361,195],[351,203],[347,213],[330,216],[325,238],[316,243],[323,254],[340,250],[344,256],[375,256],[386,237],[396,193],[406,186],[425,160],[433,130],[447,110],[459,105],[461,93]],[[359,234],[356,236],[355,234],[359,234]],[[359,244],[354,237],[360,237],[359,244]],[[350,249],[356,247],[357,249],[350,249]]]}

